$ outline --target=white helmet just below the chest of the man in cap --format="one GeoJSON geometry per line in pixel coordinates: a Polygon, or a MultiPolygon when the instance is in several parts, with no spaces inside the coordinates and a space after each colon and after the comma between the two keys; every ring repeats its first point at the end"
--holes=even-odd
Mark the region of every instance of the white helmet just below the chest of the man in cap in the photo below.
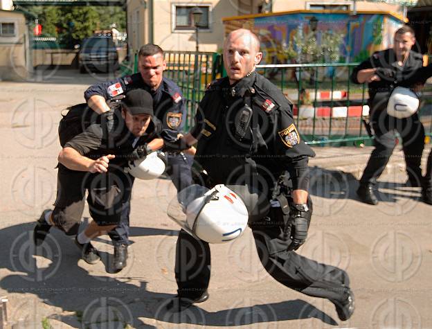
{"type": "Polygon", "coordinates": [[[155,179],[165,171],[165,163],[158,157],[157,152],[152,152],[147,157],[129,161],[129,167],[125,172],[138,179],[155,179]]]}

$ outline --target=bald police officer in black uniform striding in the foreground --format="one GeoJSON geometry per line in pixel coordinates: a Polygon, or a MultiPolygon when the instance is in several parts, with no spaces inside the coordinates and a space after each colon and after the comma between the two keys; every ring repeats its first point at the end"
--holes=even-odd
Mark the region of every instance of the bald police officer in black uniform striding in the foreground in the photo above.
{"type": "MultiPolygon", "coordinates": [[[[260,42],[250,30],[235,30],[228,35],[224,44],[228,77],[208,87],[195,126],[181,141],[186,145],[197,143],[195,161],[208,174],[201,184],[207,188],[225,184],[242,197],[267,272],[291,289],[329,299],[336,305],[339,318],[346,320],[354,312],[348,274],[294,251],[305,242],[312,214],[307,161],[314,152],[300,139],[291,103],[255,72],[261,58],[260,42]],[[280,182],[286,171],[290,195],[282,193],[287,185],[280,182]]],[[[177,312],[206,301],[210,281],[208,243],[181,230],[175,275],[178,295],[168,303],[169,310],[177,312]]]]}

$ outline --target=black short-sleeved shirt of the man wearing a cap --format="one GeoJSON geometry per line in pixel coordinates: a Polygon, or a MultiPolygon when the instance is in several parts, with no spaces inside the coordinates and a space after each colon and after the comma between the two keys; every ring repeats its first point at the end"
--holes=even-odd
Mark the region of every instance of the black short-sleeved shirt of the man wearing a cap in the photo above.
{"type": "MultiPolygon", "coordinates": [[[[116,109],[120,111],[120,109],[116,109]]],[[[114,154],[116,157],[109,161],[110,164],[125,167],[130,159],[131,153],[138,147],[159,138],[162,131],[162,124],[157,118],[152,118],[145,134],[138,139],[130,132],[120,114],[115,116],[115,128],[107,132],[104,126],[93,123],[82,133],[68,141],[64,148],[69,147],[76,150],[84,157],[98,159],[107,154],[114,154]]],[[[112,166],[116,168],[115,166],[112,166]]]]}

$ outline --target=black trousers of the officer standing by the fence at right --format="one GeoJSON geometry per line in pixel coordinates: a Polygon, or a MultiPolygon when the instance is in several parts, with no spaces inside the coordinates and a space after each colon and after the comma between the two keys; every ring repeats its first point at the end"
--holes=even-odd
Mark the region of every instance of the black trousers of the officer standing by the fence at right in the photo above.
{"type": "Polygon", "coordinates": [[[375,134],[375,149],[370,154],[368,164],[360,179],[361,185],[376,184],[390,159],[396,145],[395,132],[402,137],[405,155],[406,173],[413,186],[421,186],[422,169],[420,168],[424,149],[424,127],[417,114],[409,118],[394,118],[385,109],[377,109],[370,116],[375,134]]]}

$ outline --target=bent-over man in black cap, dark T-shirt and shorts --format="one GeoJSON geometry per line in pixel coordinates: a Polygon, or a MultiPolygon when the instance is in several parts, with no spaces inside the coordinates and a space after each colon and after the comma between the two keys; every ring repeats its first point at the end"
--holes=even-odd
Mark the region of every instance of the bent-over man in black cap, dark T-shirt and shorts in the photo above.
{"type": "Polygon", "coordinates": [[[78,233],[87,190],[93,222],[76,235],[75,243],[87,263],[100,260],[90,240],[111,231],[120,222],[123,210],[129,208],[134,182],[125,167],[129,161],[152,152],[152,141],[159,139],[162,130],[147,91],[129,91],[118,105],[114,109],[114,126],[109,131],[100,122],[100,116],[94,116],[91,109],[83,110],[81,105],[71,107],[60,121],[63,149],[58,156],[57,198],[55,208],[45,210],[37,221],[33,233],[36,246],[44,242],[51,226],[66,235],[78,233]]]}

